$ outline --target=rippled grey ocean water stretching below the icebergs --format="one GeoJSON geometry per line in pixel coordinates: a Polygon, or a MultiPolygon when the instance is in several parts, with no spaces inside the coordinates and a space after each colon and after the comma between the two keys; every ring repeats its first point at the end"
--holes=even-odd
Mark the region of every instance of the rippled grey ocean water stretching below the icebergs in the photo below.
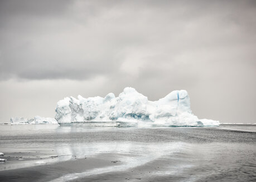
{"type": "Polygon", "coordinates": [[[256,126],[0,125],[0,181],[256,181],[256,126]]]}

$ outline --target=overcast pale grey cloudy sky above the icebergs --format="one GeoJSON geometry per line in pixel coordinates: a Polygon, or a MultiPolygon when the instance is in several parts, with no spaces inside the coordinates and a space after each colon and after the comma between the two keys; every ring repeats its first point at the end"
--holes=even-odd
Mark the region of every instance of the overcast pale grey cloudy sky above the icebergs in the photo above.
{"type": "Polygon", "coordinates": [[[0,1],[0,123],[125,87],[256,123],[256,1],[0,1]]]}

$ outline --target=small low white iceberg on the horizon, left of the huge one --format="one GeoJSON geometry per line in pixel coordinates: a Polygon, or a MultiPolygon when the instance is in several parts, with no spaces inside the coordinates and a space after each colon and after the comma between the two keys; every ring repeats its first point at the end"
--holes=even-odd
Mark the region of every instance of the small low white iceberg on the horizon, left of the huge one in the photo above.
{"type": "Polygon", "coordinates": [[[32,119],[11,117],[11,124],[58,124],[54,118],[44,118],[36,115],[32,119]]]}

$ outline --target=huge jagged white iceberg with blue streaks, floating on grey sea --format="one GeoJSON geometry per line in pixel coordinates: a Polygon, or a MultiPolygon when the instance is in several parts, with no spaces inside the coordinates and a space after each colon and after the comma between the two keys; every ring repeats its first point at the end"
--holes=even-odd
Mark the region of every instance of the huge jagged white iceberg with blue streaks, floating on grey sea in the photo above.
{"type": "Polygon", "coordinates": [[[83,98],[78,95],[57,102],[55,119],[59,124],[94,123],[127,126],[218,126],[214,120],[198,119],[190,109],[186,90],[175,90],[157,101],[127,87],[115,97],[83,98]]]}

